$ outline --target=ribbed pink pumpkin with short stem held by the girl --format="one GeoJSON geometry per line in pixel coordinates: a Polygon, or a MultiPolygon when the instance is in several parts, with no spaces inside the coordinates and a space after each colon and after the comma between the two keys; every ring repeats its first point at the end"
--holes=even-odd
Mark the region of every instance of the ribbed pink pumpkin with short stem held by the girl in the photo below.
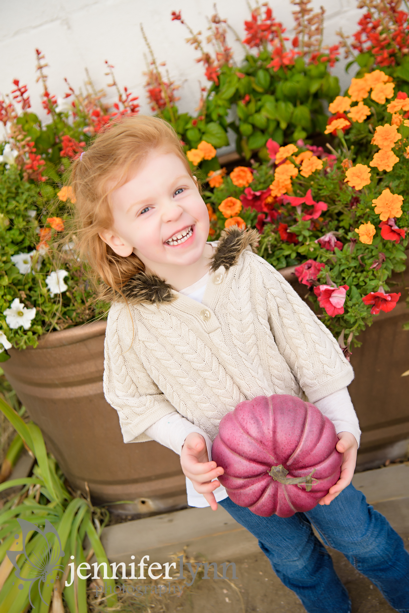
{"type": "Polygon", "coordinates": [[[334,424],[296,396],[257,396],[223,417],[212,460],[229,498],[261,517],[310,511],[340,476],[334,424]]]}

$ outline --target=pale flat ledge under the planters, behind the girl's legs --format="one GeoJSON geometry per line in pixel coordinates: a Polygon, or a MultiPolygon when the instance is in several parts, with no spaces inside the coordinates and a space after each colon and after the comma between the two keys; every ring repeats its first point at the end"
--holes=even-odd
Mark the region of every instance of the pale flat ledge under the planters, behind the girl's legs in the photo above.
{"type": "MultiPolygon", "coordinates": [[[[357,473],[353,484],[409,544],[409,462],[357,473]]],[[[169,562],[169,555],[184,546],[190,557],[216,562],[260,552],[257,539],[220,505],[217,511],[189,508],[112,525],[103,530],[101,539],[110,562],[127,564],[131,555],[169,562]]]]}

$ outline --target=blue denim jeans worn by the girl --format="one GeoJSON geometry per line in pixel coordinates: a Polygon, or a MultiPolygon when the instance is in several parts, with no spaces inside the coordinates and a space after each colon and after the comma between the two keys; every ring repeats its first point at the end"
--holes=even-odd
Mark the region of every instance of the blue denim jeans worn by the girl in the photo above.
{"type": "Polygon", "coordinates": [[[409,554],[388,520],[352,484],[331,504],[317,504],[312,511],[292,517],[259,517],[230,498],[219,504],[258,538],[272,569],[308,613],[351,611],[348,592],[311,524],[324,543],[342,552],[396,611],[409,613],[409,554]]]}

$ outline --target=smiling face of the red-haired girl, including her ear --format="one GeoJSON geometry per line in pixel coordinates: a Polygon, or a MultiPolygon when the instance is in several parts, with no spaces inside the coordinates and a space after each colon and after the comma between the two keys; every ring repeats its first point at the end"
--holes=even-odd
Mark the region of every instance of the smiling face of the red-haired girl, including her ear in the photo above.
{"type": "Polygon", "coordinates": [[[203,256],[208,210],[176,154],[152,151],[111,202],[113,228],[100,237],[119,256],[133,252],[158,273],[194,265],[203,256]]]}

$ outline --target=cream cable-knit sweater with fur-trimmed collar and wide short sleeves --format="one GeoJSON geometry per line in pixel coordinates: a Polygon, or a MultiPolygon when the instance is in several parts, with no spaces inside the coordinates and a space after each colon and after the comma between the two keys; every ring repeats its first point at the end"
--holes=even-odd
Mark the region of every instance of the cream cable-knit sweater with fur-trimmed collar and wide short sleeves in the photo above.
{"type": "Polygon", "coordinates": [[[151,440],[145,430],[173,411],[214,440],[242,400],[305,392],[315,402],[351,383],[334,337],[252,252],[253,238],[233,227],[220,239],[202,304],[141,273],[124,289],[129,308],[111,306],[103,386],[124,442],[151,440]]]}

